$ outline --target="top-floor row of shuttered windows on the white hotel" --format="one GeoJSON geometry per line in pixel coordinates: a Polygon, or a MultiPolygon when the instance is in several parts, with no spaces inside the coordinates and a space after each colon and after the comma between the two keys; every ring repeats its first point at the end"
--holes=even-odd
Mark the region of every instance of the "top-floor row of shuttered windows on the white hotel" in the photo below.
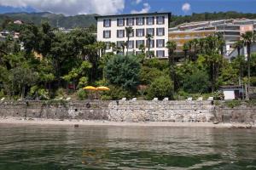
{"type": "MultiPolygon", "coordinates": [[[[154,25],[154,17],[138,17],[138,18],[127,18],[127,19],[117,19],[117,26],[134,26],[136,21],[136,26],[144,26],[145,21],[148,26],[154,25]]],[[[163,25],[165,24],[165,16],[157,16],[156,17],[156,24],[157,25],[163,25]]],[[[103,20],[103,26],[104,27],[110,27],[111,26],[111,20],[103,20]]]]}

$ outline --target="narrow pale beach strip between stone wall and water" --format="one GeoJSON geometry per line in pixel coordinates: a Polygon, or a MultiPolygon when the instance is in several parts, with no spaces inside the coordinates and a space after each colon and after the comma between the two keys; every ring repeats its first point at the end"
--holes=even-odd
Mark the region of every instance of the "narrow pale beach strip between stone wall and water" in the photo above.
{"type": "Polygon", "coordinates": [[[256,128],[256,125],[245,123],[218,123],[213,122],[108,122],[88,120],[58,120],[58,119],[28,119],[16,117],[0,118],[0,124],[15,125],[62,125],[62,126],[96,126],[96,127],[212,127],[212,128],[256,128]]]}

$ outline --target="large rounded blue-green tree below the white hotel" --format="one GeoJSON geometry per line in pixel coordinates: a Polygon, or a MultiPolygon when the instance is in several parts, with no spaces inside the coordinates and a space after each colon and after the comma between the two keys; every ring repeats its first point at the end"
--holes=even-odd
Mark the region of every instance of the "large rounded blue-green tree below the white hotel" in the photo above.
{"type": "Polygon", "coordinates": [[[134,56],[115,55],[105,67],[108,81],[125,89],[136,89],[140,64],[134,56]]]}

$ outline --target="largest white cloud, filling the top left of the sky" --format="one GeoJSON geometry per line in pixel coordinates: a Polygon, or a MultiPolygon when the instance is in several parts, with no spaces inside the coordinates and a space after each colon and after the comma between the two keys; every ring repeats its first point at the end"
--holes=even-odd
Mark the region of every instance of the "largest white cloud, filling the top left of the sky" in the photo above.
{"type": "Polygon", "coordinates": [[[119,14],[125,0],[0,0],[0,6],[32,7],[56,14],[119,14]]]}

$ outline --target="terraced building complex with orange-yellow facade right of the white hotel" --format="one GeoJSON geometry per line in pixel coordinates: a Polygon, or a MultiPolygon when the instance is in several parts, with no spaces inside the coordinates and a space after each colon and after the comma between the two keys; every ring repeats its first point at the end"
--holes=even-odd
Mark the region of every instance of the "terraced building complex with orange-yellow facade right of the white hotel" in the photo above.
{"type": "Polygon", "coordinates": [[[230,19],[190,22],[170,28],[169,40],[179,42],[177,47],[178,50],[180,50],[180,47],[183,46],[183,42],[187,41],[187,38],[175,39],[176,35],[187,35],[190,40],[205,37],[214,32],[219,32],[223,35],[225,41],[225,57],[230,58],[231,55],[234,55],[234,50],[236,50],[234,48],[234,43],[241,40],[241,34],[246,31],[256,31],[256,20],[230,19]],[[201,33],[199,33],[200,31],[201,33]]]}

